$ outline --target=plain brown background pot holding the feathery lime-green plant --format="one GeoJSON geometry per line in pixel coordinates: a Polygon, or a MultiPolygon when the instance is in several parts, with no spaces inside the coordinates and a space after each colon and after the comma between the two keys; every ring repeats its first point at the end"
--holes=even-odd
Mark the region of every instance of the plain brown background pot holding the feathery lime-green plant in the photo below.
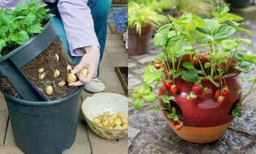
{"type": "Polygon", "coordinates": [[[141,35],[138,35],[135,28],[128,30],[128,53],[130,55],[142,55],[148,52],[152,38],[152,25],[141,27],[141,35]]]}

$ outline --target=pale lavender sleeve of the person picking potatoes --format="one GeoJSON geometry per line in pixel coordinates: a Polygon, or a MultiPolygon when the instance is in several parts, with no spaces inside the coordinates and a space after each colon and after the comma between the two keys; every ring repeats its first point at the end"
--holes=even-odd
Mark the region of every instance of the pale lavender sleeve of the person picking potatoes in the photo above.
{"type": "Polygon", "coordinates": [[[94,31],[91,10],[84,0],[60,0],[58,2],[61,19],[65,28],[71,55],[77,48],[98,45],[94,31]]]}

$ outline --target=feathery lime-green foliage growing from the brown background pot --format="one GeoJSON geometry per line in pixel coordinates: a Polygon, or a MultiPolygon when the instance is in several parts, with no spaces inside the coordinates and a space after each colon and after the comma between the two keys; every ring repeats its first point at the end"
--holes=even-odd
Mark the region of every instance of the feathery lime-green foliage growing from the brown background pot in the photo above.
{"type": "Polygon", "coordinates": [[[166,16],[159,14],[150,6],[134,2],[128,4],[128,27],[135,27],[138,34],[141,34],[141,27],[144,25],[158,27],[167,20],[166,16]]]}

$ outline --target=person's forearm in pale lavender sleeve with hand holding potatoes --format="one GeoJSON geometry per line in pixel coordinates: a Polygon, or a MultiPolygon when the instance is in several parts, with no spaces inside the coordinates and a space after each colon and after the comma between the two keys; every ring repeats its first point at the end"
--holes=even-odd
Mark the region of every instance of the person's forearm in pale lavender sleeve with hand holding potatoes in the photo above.
{"type": "Polygon", "coordinates": [[[86,54],[81,62],[74,68],[73,73],[77,74],[79,81],[70,83],[70,86],[79,86],[90,83],[97,76],[99,65],[99,41],[94,31],[93,19],[87,1],[84,0],[60,0],[58,2],[61,19],[63,20],[70,53],[72,56],[79,56],[75,52],[77,48],[83,48],[86,54]],[[88,76],[83,78],[79,71],[88,68],[88,76]]]}

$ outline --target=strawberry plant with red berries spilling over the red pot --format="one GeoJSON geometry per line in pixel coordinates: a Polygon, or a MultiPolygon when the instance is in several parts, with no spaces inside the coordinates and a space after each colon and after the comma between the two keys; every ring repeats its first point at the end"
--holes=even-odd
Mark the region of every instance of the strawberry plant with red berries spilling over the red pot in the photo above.
{"type": "MultiPolygon", "coordinates": [[[[135,90],[135,109],[140,109],[143,102],[155,102],[158,98],[164,102],[164,106],[157,106],[156,109],[170,113],[169,118],[177,121],[176,111],[170,104],[175,98],[170,96],[170,91],[173,94],[177,92],[179,85],[175,83],[175,78],[178,77],[194,84],[186,97],[188,100],[204,97],[208,92],[209,88],[202,87],[202,80],[209,80],[218,88],[216,101],[225,100],[228,88],[232,87],[227,86],[224,77],[237,72],[248,73],[256,65],[256,55],[246,53],[244,48],[252,45],[250,39],[233,37],[236,31],[246,32],[249,36],[252,36],[252,32],[241,27],[243,22],[237,22],[243,20],[242,17],[228,11],[227,6],[217,6],[212,13],[213,18],[203,19],[191,13],[179,19],[169,17],[172,23],[160,27],[154,37],[155,46],[164,46],[164,50],[145,70],[142,76],[144,85],[135,90]],[[182,62],[185,55],[189,56],[189,60],[182,62]],[[202,58],[208,61],[203,63],[202,58]],[[164,76],[168,80],[163,80],[164,76]],[[164,94],[156,94],[152,91],[153,87],[161,87],[164,94]],[[147,100],[149,95],[150,100],[147,100]]],[[[232,111],[237,116],[241,116],[241,104],[255,90],[256,78],[243,77],[242,81],[252,81],[252,87],[232,111]]],[[[241,90],[237,91],[237,96],[239,94],[241,90]]]]}

